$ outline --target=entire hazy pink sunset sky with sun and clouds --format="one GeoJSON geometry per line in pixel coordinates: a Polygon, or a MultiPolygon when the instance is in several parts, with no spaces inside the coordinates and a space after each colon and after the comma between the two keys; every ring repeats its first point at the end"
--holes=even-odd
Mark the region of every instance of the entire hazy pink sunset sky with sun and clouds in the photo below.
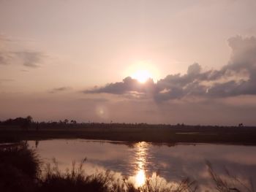
{"type": "Polygon", "coordinates": [[[0,120],[256,125],[254,0],[0,0],[0,120]]]}

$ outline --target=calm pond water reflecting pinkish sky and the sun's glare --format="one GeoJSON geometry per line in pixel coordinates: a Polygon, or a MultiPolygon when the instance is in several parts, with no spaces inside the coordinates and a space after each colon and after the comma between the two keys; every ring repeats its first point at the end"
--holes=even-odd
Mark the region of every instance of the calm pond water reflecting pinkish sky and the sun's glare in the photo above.
{"type": "Polygon", "coordinates": [[[156,173],[167,182],[179,182],[190,177],[200,184],[201,189],[213,183],[208,174],[206,160],[225,177],[227,169],[241,180],[252,179],[256,186],[256,147],[241,145],[152,145],[147,142],[101,142],[86,139],[53,139],[30,141],[45,162],[53,158],[65,171],[72,161],[87,158],[86,173],[93,174],[111,170],[142,185],[145,177],[156,173]]]}

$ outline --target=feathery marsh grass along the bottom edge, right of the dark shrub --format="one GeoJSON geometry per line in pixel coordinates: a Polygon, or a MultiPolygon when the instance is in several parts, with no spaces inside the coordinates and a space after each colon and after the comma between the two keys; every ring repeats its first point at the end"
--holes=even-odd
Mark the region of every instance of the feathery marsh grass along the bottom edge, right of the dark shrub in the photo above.
{"type": "Polygon", "coordinates": [[[154,174],[146,179],[146,183],[135,187],[135,183],[127,178],[116,177],[113,172],[96,172],[87,175],[83,169],[86,158],[66,172],[59,170],[58,162],[53,158],[52,164],[47,164],[40,177],[38,191],[102,191],[102,192],[192,192],[197,190],[195,181],[182,180],[181,183],[170,184],[154,174]]]}

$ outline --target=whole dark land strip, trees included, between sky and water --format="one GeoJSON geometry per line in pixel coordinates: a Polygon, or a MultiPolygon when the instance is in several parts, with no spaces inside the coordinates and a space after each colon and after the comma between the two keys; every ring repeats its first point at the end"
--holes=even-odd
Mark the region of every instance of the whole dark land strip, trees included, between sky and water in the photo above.
{"type": "Polygon", "coordinates": [[[0,122],[0,142],[39,139],[107,139],[127,142],[205,142],[255,145],[256,128],[241,126],[150,125],[147,123],[33,122],[15,118],[0,122]],[[25,128],[26,127],[26,128],[25,128]]]}

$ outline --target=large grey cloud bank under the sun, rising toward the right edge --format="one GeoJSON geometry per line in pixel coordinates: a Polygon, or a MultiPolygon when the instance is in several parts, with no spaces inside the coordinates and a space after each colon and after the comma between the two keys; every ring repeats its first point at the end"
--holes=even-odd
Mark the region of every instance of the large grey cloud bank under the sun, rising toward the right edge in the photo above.
{"type": "Polygon", "coordinates": [[[181,99],[187,96],[223,98],[228,96],[256,95],[256,38],[240,36],[228,39],[232,50],[230,61],[219,70],[202,72],[199,64],[188,67],[187,74],[169,74],[153,82],[141,84],[132,77],[83,93],[140,93],[155,101],[181,99]],[[150,93],[150,94],[148,94],[150,93]]]}

